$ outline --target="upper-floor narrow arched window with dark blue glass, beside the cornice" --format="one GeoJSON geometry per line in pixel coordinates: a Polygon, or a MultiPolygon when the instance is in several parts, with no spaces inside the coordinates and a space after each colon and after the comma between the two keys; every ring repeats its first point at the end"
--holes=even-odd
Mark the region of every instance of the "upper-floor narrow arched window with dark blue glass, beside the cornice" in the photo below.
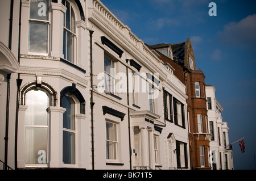
{"type": "Polygon", "coordinates": [[[64,31],[63,31],[63,54],[64,59],[75,62],[75,44],[76,44],[76,17],[75,11],[68,1],[65,1],[67,8],[64,14],[64,31]]]}

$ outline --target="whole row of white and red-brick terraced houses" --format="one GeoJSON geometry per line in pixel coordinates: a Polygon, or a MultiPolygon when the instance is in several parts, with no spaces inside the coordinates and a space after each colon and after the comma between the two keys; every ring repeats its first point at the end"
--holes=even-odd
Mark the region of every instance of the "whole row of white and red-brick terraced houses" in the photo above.
{"type": "Polygon", "coordinates": [[[99,0],[0,11],[1,169],[233,169],[190,39],[147,45],[99,0]]]}

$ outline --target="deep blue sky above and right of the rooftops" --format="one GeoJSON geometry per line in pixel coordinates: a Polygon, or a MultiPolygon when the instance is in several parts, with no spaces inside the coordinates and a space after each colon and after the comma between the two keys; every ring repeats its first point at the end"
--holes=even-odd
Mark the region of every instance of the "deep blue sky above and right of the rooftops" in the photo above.
{"type": "Polygon", "coordinates": [[[245,137],[244,154],[233,145],[234,169],[254,169],[256,155],[256,1],[102,0],[146,44],[190,38],[196,66],[216,87],[229,142],[245,137]],[[210,2],[217,16],[209,16],[210,2]]]}

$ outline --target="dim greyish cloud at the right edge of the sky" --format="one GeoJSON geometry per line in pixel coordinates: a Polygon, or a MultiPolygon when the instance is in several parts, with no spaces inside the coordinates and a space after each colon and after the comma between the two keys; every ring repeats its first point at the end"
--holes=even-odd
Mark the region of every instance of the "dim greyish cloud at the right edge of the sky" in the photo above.
{"type": "Polygon", "coordinates": [[[231,22],[224,26],[218,34],[222,43],[235,45],[239,48],[255,48],[256,45],[256,14],[249,15],[240,22],[231,22]]]}

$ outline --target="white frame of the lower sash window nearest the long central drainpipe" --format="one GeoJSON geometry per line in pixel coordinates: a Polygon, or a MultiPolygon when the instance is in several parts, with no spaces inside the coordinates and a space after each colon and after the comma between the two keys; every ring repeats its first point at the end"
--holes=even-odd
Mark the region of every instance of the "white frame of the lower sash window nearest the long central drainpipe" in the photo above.
{"type": "Polygon", "coordinates": [[[107,140],[107,138],[106,138],[106,142],[107,141],[108,142],[113,142],[115,144],[115,146],[113,147],[114,148],[113,151],[116,154],[115,159],[109,159],[108,155],[107,155],[107,148],[106,148],[106,162],[115,162],[115,163],[117,163],[118,162],[118,155],[119,155],[118,154],[118,146],[119,146],[119,144],[118,144],[118,124],[114,123],[113,121],[110,121],[110,120],[106,120],[105,122],[115,125],[114,131],[115,131],[115,137],[116,137],[116,140],[107,140]]]}

